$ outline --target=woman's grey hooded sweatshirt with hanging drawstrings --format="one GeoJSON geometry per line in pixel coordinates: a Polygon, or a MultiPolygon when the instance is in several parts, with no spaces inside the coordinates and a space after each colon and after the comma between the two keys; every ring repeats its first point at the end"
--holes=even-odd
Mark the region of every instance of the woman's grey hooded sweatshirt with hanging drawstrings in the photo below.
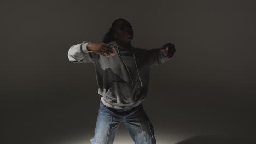
{"type": "MultiPolygon", "coordinates": [[[[137,68],[138,80],[132,79],[131,71],[120,55],[120,45],[115,41],[108,43],[115,49],[117,55],[104,57],[88,51],[88,41],[73,45],[68,50],[68,59],[74,63],[93,63],[96,71],[98,94],[106,106],[116,109],[131,109],[138,106],[147,96],[149,86],[149,71],[153,65],[160,65],[167,59],[168,51],[161,48],[142,49],[131,47],[133,62],[137,68]],[[82,47],[85,51],[82,51],[82,47]]],[[[170,47],[169,47],[170,50],[170,47]]],[[[174,54],[174,53],[173,53],[174,54]]],[[[132,71],[135,73],[135,71],[132,71]]]]}

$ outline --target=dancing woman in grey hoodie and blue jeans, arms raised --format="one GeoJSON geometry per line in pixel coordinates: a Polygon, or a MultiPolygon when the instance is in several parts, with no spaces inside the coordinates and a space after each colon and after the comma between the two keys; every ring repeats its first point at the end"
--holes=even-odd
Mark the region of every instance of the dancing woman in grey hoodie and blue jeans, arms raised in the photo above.
{"type": "Polygon", "coordinates": [[[112,23],[103,43],[83,41],[68,51],[69,61],[93,63],[98,94],[101,95],[93,144],[114,142],[119,124],[124,122],[135,143],[156,143],[154,128],[143,109],[148,93],[149,70],[173,58],[172,43],[160,48],[133,47],[131,24],[119,18],[112,23]]]}

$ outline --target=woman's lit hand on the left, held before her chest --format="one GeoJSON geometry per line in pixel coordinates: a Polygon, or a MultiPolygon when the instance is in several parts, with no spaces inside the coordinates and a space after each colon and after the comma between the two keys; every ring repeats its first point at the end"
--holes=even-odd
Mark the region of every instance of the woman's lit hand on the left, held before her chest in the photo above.
{"type": "Polygon", "coordinates": [[[93,52],[98,53],[98,54],[100,54],[102,56],[105,56],[105,57],[110,57],[110,56],[114,56],[114,55],[117,54],[114,51],[114,47],[112,47],[108,44],[105,44],[105,43],[92,43],[92,42],[90,42],[87,45],[87,49],[89,51],[93,51],[93,52]]]}

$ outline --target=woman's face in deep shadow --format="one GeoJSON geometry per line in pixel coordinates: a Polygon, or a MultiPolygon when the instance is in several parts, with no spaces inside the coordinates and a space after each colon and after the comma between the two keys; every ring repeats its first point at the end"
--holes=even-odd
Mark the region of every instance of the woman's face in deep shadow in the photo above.
{"type": "Polygon", "coordinates": [[[133,29],[128,21],[120,20],[114,27],[114,38],[121,43],[131,43],[133,39],[133,29]]]}

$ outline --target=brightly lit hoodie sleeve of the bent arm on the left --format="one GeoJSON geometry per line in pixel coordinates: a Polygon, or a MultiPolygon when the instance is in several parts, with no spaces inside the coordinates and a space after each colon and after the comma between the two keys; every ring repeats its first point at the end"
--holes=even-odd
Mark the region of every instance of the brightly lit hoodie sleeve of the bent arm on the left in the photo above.
{"type": "Polygon", "coordinates": [[[87,45],[90,42],[83,41],[80,44],[72,45],[68,50],[68,59],[71,62],[74,63],[95,63],[98,59],[98,53],[95,53],[93,51],[89,51],[87,49],[87,45]],[[85,51],[82,51],[82,47],[85,51]]]}

